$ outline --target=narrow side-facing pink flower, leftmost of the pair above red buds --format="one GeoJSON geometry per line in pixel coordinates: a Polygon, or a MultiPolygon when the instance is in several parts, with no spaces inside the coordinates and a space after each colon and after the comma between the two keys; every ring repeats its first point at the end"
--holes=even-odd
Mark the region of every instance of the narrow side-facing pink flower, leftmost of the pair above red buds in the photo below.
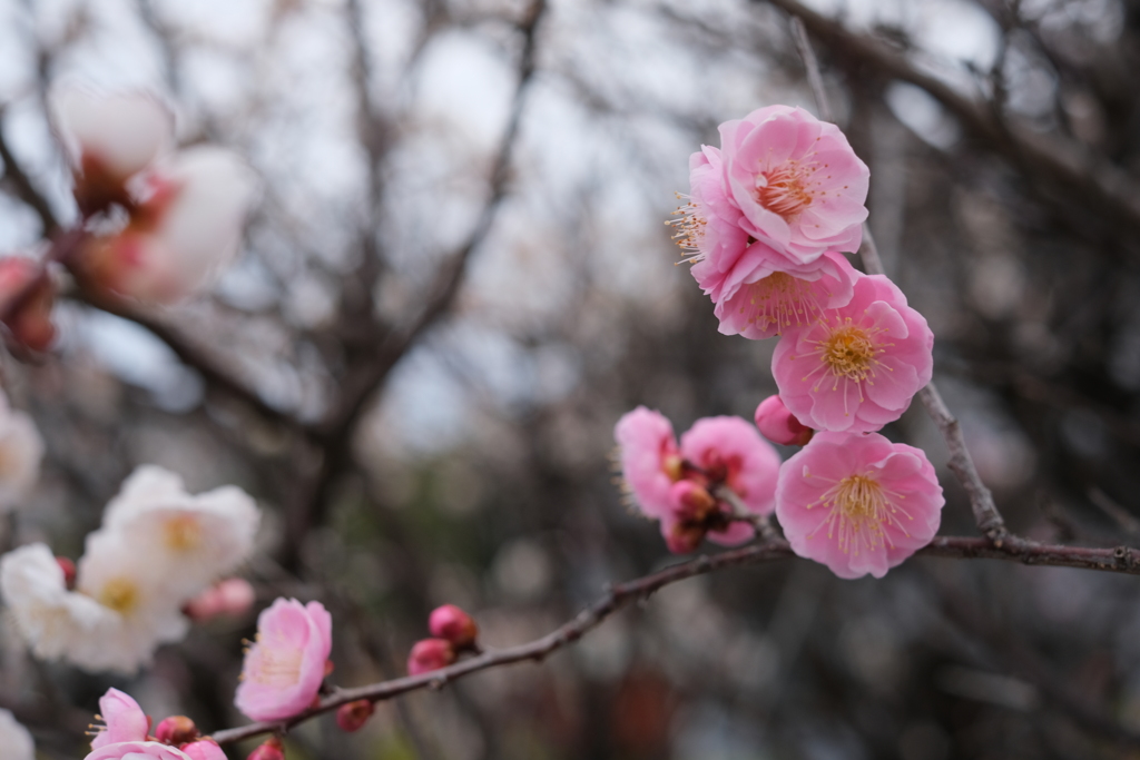
{"type": "Polygon", "coordinates": [[[681,479],[681,453],[673,424],[658,411],[637,407],[613,428],[621,447],[621,476],[648,517],[670,510],[669,489],[681,479]]]}

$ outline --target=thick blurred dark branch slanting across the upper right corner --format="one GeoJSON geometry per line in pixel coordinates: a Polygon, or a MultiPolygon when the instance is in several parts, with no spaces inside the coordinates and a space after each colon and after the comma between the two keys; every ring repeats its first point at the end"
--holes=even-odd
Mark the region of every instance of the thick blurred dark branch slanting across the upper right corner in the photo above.
{"type": "Polygon", "coordinates": [[[803,19],[807,31],[834,55],[926,90],[970,134],[1004,154],[1026,174],[1043,177],[1067,188],[1070,197],[1094,209],[1110,221],[1125,226],[1133,235],[1140,232],[1140,188],[1108,161],[1059,137],[1029,134],[999,121],[990,105],[961,95],[942,80],[919,71],[903,56],[891,52],[877,40],[849,31],[841,22],[817,14],[797,0],[766,1],[790,16],[803,19]]]}

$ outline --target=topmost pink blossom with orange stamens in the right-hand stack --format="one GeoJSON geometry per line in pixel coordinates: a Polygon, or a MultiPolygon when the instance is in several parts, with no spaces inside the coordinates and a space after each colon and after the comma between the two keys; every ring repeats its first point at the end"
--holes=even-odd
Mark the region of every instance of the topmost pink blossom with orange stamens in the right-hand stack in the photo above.
{"type": "Polygon", "coordinates": [[[870,171],[838,126],[803,108],[759,108],[720,124],[720,156],[747,234],[804,263],[858,250],[870,171]]]}

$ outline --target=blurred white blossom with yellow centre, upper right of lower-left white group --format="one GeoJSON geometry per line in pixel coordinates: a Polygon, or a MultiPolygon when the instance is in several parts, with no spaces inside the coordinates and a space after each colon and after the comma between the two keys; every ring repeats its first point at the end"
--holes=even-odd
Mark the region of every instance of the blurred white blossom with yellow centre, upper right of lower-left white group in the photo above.
{"type": "Polygon", "coordinates": [[[192,496],[177,474],[142,465],[107,505],[101,531],[132,547],[165,593],[185,599],[249,558],[259,522],[253,498],[235,485],[192,496]]]}

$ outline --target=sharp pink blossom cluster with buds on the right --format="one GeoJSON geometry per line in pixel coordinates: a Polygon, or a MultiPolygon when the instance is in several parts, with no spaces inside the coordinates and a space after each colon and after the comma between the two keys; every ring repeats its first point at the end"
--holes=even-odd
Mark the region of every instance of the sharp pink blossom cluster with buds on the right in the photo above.
{"type": "Polygon", "coordinates": [[[669,422],[638,408],[616,428],[626,483],[673,551],[706,534],[743,542],[752,529],[742,513],[775,512],[798,555],[842,578],[881,578],[940,520],[926,456],[876,432],[930,381],[934,335],[894,283],[844,256],[862,242],[870,172],[837,126],[769,106],[722,124],[720,139],[690,160],[675,238],[722,333],[780,336],[780,393],[756,424],[804,449],[781,465],[726,417],[698,420],[678,449],[669,422]]]}

